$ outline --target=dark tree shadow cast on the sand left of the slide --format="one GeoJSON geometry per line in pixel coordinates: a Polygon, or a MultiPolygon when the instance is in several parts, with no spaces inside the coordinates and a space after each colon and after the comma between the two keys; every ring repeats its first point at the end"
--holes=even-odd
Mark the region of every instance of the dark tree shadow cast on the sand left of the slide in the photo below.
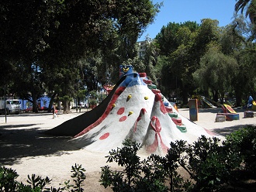
{"type": "Polygon", "coordinates": [[[78,150],[70,136],[49,136],[40,130],[40,124],[2,125],[0,127],[0,164],[13,165],[23,157],[61,156],[78,150]]]}

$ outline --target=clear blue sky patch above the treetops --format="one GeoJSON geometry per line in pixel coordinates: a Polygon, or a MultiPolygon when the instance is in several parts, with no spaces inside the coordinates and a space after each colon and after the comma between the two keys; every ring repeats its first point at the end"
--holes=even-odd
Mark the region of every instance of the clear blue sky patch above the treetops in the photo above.
{"type": "Polygon", "coordinates": [[[217,19],[219,26],[227,26],[233,20],[236,4],[236,0],[153,0],[153,2],[164,2],[164,6],[139,41],[144,40],[147,34],[154,39],[162,26],[167,26],[168,22],[200,23],[201,19],[209,18],[217,19]]]}

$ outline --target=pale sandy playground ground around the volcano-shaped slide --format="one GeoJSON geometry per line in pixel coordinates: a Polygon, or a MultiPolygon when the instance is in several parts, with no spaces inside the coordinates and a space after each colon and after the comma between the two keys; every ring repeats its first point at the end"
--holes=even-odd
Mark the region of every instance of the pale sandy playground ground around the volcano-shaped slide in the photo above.
{"type": "MultiPolygon", "coordinates": [[[[234,108],[240,115],[239,120],[215,122],[220,108],[199,109],[199,118],[195,123],[203,128],[227,135],[244,125],[256,125],[254,118],[244,118],[244,109],[234,108]]],[[[179,113],[189,118],[189,108],[179,108],[179,113]]],[[[86,112],[82,109],[81,112],[86,112]]],[[[108,153],[93,153],[78,149],[71,142],[71,137],[52,137],[43,132],[52,129],[68,119],[81,115],[78,111],[61,114],[54,118],[50,113],[22,113],[20,115],[0,115],[0,165],[11,167],[19,174],[18,180],[26,183],[27,176],[50,177],[51,185],[60,187],[59,183],[72,180],[71,166],[78,164],[85,168],[85,191],[112,191],[100,186],[101,167],[105,165],[116,169],[115,163],[106,163],[108,153]]],[[[85,120],[86,121],[86,120],[85,120]]],[[[62,185],[63,186],[63,185],[62,185]]]]}

